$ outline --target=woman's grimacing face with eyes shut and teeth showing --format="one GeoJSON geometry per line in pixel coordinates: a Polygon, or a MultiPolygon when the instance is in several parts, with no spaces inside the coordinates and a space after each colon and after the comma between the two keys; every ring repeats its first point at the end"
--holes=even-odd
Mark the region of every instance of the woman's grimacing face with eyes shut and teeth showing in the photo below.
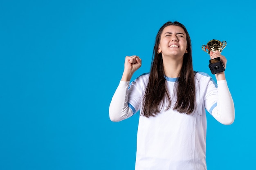
{"type": "Polygon", "coordinates": [[[187,53],[186,33],[180,26],[166,26],[161,34],[158,53],[162,56],[183,57],[187,53]]]}

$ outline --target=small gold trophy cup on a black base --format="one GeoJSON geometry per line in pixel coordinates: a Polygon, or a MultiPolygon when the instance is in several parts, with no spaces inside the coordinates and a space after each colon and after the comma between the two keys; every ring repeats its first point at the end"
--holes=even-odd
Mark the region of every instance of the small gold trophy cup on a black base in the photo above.
{"type": "MultiPolygon", "coordinates": [[[[221,42],[219,40],[210,40],[207,43],[207,45],[202,45],[202,50],[204,52],[207,52],[208,54],[210,54],[211,51],[214,52],[216,50],[221,52],[226,47],[226,45],[227,45],[226,41],[221,42]]],[[[217,74],[222,71],[225,71],[225,68],[224,68],[222,62],[220,61],[220,57],[211,59],[209,68],[210,68],[212,74],[217,74]]]]}

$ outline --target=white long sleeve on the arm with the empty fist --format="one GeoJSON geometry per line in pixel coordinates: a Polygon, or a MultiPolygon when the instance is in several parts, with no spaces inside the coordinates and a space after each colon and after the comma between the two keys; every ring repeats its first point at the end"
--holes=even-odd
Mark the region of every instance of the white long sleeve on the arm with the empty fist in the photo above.
{"type": "Polygon", "coordinates": [[[109,117],[111,121],[121,121],[133,115],[132,109],[128,107],[128,87],[130,82],[120,81],[109,106],[109,117]]]}

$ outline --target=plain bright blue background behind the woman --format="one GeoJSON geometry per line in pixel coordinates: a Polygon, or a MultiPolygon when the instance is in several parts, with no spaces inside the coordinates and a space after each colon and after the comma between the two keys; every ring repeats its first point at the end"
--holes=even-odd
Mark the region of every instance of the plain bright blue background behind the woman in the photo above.
{"type": "MultiPolygon", "coordinates": [[[[207,113],[208,170],[255,167],[255,5],[249,0],[0,0],[0,170],[132,170],[139,115],[111,122],[126,55],[150,69],[158,29],[186,26],[201,46],[227,41],[234,124],[207,113]]],[[[215,77],[213,76],[213,79],[215,77]]]]}

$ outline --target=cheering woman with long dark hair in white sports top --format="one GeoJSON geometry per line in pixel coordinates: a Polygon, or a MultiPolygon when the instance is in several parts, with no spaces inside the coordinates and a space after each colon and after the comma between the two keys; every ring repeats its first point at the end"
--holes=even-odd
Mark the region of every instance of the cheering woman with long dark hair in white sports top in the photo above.
{"type": "MultiPolygon", "coordinates": [[[[210,53],[220,57],[219,51],[210,53]]],[[[158,31],[150,73],[133,82],[141,59],[127,56],[124,73],[110,103],[112,121],[140,110],[135,170],[206,170],[206,111],[222,124],[234,122],[234,102],[225,72],[217,84],[193,71],[191,40],[184,25],[166,22],[158,31]]]]}

